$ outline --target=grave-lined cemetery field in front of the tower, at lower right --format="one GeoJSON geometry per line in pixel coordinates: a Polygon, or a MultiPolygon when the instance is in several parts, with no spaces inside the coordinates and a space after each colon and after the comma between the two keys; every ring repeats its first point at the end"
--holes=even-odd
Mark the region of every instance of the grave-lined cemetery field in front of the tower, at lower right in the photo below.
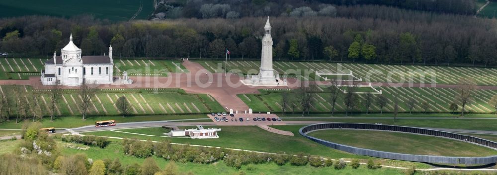
{"type": "MultiPolygon", "coordinates": [[[[435,113],[448,113],[451,112],[449,109],[450,103],[453,102],[454,97],[458,92],[456,89],[450,88],[393,88],[393,87],[377,87],[377,89],[382,90],[383,94],[389,99],[389,103],[384,107],[384,112],[392,112],[394,109],[393,99],[394,94],[398,94],[399,99],[399,111],[409,112],[409,108],[406,103],[409,101],[409,97],[413,97],[415,100],[415,105],[413,112],[424,112],[424,108],[421,106],[422,102],[428,102],[427,112],[435,113]]],[[[321,88],[323,92],[315,93],[314,104],[311,108],[311,112],[331,112],[331,104],[329,103],[330,94],[326,92],[326,88],[321,88]]],[[[289,91],[290,93],[292,91],[289,91]]],[[[495,113],[495,109],[488,104],[488,101],[492,96],[497,94],[494,90],[477,90],[472,96],[473,101],[466,106],[466,112],[472,113],[495,113]]],[[[364,94],[358,94],[359,101],[361,103],[358,105],[358,109],[361,112],[366,112],[363,107],[362,101],[364,101],[364,94]]],[[[378,96],[373,94],[374,97],[378,96]]],[[[238,97],[242,99],[253,111],[258,112],[282,112],[282,102],[280,92],[269,92],[263,94],[239,94],[238,97]],[[267,105],[266,105],[267,104],[267,105]]],[[[344,112],[345,105],[343,104],[343,94],[337,100],[335,105],[335,111],[344,112]]],[[[357,110],[357,109],[356,109],[357,110]]],[[[287,112],[291,112],[291,108],[287,108],[287,112]]],[[[302,109],[299,107],[296,109],[297,112],[301,112],[302,109]]],[[[380,108],[376,103],[373,103],[369,109],[370,112],[380,112],[380,108]]]]}

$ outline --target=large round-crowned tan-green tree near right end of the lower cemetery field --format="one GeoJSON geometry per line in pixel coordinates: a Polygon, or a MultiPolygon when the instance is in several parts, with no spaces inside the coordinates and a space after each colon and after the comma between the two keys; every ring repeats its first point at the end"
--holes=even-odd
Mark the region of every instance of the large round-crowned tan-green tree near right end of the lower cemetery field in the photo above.
{"type": "Polygon", "coordinates": [[[461,105],[461,116],[464,116],[464,108],[471,103],[472,95],[476,88],[476,83],[473,78],[461,78],[457,84],[457,102],[461,105]]]}

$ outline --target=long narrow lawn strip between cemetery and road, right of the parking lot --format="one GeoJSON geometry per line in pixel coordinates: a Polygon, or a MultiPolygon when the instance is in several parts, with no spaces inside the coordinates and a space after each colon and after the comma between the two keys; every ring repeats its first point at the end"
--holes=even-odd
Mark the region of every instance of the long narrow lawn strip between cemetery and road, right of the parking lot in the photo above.
{"type": "Polygon", "coordinates": [[[451,129],[472,129],[472,130],[497,130],[495,119],[408,119],[394,118],[391,119],[362,119],[362,118],[285,118],[285,121],[330,121],[330,122],[349,122],[349,123],[383,123],[401,126],[416,127],[434,127],[434,128],[451,128],[451,129]]]}

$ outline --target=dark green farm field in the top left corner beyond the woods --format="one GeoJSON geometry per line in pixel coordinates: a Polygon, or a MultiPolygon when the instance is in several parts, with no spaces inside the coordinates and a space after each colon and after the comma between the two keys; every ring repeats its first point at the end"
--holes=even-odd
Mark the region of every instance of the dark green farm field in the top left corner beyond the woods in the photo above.
{"type": "Polygon", "coordinates": [[[153,0],[2,0],[0,17],[50,15],[68,17],[91,14],[112,21],[147,19],[154,10],[153,0]],[[57,4],[57,5],[53,5],[57,4]]]}

